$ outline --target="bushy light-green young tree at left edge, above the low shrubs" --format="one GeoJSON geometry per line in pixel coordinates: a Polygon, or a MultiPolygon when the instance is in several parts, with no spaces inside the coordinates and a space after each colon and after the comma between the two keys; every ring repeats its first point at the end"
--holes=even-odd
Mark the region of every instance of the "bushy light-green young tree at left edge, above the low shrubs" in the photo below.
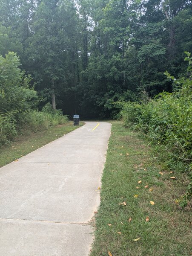
{"type": "Polygon", "coordinates": [[[37,92],[30,88],[30,76],[20,70],[20,60],[14,52],[0,55],[0,113],[27,111],[35,105],[37,92]]]}

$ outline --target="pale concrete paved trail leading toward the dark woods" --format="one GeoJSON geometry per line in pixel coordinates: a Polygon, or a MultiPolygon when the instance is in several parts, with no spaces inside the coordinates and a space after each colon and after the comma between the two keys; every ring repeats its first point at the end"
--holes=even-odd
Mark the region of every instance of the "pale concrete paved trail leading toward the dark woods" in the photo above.
{"type": "Polygon", "coordinates": [[[89,255],[111,130],[96,125],[0,168],[0,256],[89,255]]]}

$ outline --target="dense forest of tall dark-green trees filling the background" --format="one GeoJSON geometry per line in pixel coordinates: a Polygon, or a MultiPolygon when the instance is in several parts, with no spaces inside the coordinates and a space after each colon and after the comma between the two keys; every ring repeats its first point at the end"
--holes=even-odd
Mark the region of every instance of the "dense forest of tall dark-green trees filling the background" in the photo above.
{"type": "Polygon", "coordinates": [[[186,74],[191,12],[188,0],[0,0],[1,64],[14,60],[32,108],[113,118],[117,102],[172,92],[166,70],[186,74]]]}

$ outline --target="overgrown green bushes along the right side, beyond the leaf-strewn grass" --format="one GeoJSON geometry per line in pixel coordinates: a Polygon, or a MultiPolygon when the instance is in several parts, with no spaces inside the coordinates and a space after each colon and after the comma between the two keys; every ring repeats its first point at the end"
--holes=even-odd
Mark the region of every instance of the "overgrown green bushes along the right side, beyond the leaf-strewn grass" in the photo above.
{"type": "MultiPolygon", "coordinates": [[[[120,113],[126,126],[134,124],[154,143],[163,145],[169,168],[177,172],[185,172],[192,160],[192,57],[189,52],[185,54],[185,61],[189,61],[186,77],[175,79],[168,71],[164,73],[175,84],[173,93],[160,93],[147,104],[126,102],[120,113]]],[[[178,201],[182,208],[191,196],[189,184],[178,201]]]]}

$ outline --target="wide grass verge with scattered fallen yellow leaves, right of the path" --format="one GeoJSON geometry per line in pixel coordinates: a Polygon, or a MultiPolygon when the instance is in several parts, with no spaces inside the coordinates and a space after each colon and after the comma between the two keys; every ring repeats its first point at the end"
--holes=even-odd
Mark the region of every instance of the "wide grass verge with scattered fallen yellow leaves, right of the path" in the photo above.
{"type": "Polygon", "coordinates": [[[123,128],[122,122],[112,122],[91,256],[109,256],[108,251],[112,256],[189,256],[192,252],[190,205],[181,210],[175,203],[185,192],[186,176],[170,174],[153,156],[138,133],[123,128]],[[120,205],[123,202],[126,206],[120,205]]]}

